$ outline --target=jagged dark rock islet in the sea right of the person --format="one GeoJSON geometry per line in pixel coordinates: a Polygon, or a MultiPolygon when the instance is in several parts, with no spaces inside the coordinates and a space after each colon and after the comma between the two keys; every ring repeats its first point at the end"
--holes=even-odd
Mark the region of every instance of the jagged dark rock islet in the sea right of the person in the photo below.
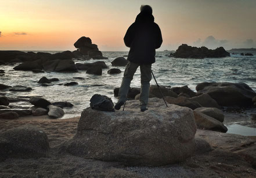
{"type": "Polygon", "coordinates": [[[171,56],[176,58],[219,58],[228,57],[230,54],[223,48],[218,47],[215,50],[208,49],[207,47],[192,47],[188,44],[182,44],[178,47],[175,53],[171,56]]]}

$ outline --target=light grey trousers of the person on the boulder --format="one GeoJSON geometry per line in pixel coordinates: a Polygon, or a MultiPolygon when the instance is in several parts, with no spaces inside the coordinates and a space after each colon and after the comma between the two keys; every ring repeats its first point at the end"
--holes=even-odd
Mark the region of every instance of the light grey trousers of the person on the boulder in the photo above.
{"type": "Polygon", "coordinates": [[[125,102],[127,93],[129,91],[129,86],[131,84],[132,79],[134,78],[134,73],[137,68],[140,66],[140,108],[146,108],[147,103],[149,102],[149,87],[150,80],[152,79],[151,75],[151,64],[143,64],[139,65],[134,62],[128,62],[125,67],[124,77],[122,77],[121,87],[119,89],[118,95],[120,98],[118,102],[125,102]]]}

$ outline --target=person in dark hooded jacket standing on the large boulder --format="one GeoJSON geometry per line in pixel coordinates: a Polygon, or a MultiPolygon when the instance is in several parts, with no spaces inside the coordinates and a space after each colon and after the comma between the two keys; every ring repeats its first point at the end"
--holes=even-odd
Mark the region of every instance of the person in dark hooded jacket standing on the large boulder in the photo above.
{"type": "Polygon", "coordinates": [[[127,93],[134,73],[140,66],[140,110],[147,110],[149,101],[149,87],[152,79],[151,65],[156,61],[156,49],[163,43],[161,30],[154,23],[152,8],[149,5],[140,6],[140,13],[127,30],[124,36],[124,43],[130,48],[128,58],[129,61],[122,77],[122,83],[118,95],[117,104],[114,106],[119,110],[125,103],[127,93]]]}

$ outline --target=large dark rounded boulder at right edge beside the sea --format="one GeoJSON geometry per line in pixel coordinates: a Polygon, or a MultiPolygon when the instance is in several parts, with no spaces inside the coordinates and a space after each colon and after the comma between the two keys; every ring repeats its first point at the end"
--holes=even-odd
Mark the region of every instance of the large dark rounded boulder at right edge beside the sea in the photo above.
{"type": "Polygon", "coordinates": [[[256,92],[245,83],[200,83],[196,86],[199,93],[206,93],[220,106],[252,106],[256,92]]]}

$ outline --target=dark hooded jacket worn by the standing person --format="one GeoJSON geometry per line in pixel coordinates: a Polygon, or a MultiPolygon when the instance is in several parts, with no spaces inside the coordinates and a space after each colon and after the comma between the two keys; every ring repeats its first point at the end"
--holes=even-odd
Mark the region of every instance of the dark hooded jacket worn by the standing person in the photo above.
{"type": "Polygon", "coordinates": [[[140,12],[124,36],[125,45],[130,47],[127,60],[137,64],[153,64],[156,49],[162,42],[161,30],[154,23],[154,16],[140,12]]]}

